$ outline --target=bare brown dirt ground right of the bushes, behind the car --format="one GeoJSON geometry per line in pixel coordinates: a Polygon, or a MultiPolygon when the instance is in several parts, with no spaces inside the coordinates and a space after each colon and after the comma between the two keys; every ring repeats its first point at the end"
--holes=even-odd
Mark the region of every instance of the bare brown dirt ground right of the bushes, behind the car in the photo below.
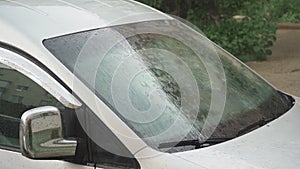
{"type": "Polygon", "coordinates": [[[276,88],[300,97],[300,29],[279,29],[267,61],[248,62],[276,88]]]}

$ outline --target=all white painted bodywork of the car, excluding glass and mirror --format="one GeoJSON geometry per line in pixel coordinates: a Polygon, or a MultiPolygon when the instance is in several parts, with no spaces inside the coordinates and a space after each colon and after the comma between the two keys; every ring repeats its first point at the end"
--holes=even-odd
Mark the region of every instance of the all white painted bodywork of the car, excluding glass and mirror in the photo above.
{"type": "MultiPolygon", "coordinates": [[[[157,152],[149,148],[42,44],[44,39],[64,34],[159,19],[172,18],[133,1],[4,0],[0,2],[0,41],[1,46],[20,49],[47,66],[126,145],[141,168],[299,168],[300,99],[297,97],[295,106],[286,114],[236,139],[181,153],[157,152]]],[[[0,168],[6,169],[91,168],[57,160],[30,160],[21,153],[1,149],[0,156],[0,168]]]]}

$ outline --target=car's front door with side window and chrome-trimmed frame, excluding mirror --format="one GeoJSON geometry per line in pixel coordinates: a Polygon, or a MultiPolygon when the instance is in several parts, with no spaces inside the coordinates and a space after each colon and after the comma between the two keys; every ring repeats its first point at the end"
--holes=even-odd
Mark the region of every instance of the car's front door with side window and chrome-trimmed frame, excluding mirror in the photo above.
{"type": "MultiPolygon", "coordinates": [[[[94,168],[87,163],[67,162],[74,161],[73,158],[33,160],[22,156],[20,117],[25,111],[44,105],[54,106],[67,114],[81,103],[40,66],[20,54],[0,48],[0,169],[94,168]]],[[[77,156],[83,157],[82,154],[77,156]]]]}

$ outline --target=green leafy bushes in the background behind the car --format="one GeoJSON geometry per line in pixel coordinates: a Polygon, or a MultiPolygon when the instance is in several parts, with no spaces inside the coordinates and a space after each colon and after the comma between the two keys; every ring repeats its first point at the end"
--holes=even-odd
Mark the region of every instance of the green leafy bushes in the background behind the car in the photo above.
{"type": "Polygon", "coordinates": [[[300,1],[295,0],[140,1],[191,21],[242,61],[265,60],[276,40],[276,23],[300,20],[300,1]]]}

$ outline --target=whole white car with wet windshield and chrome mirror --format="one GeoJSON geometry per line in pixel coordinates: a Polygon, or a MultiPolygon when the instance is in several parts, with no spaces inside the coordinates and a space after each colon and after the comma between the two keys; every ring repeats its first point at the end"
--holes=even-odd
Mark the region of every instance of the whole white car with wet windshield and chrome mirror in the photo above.
{"type": "Polygon", "coordinates": [[[1,169],[295,169],[299,102],[138,2],[0,1],[1,169]]]}

